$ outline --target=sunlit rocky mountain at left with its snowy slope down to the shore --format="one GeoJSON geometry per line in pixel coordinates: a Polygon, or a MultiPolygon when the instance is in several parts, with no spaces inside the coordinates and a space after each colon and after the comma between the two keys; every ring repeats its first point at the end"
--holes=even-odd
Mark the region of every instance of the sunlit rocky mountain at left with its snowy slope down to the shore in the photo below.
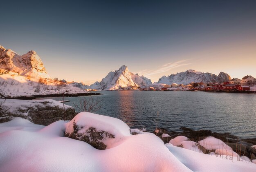
{"type": "MultiPolygon", "coordinates": [[[[52,79],[35,51],[22,56],[0,46],[0,97],[86,93],[65,80],[52,79]]],[[[77,83],[79,85],[79,83],[77,83]]]]}

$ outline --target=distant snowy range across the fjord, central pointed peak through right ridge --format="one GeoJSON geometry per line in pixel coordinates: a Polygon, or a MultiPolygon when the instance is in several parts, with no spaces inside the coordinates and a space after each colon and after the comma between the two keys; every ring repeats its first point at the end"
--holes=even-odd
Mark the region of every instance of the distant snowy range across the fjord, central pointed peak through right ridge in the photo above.
{"type": "MultiPolygon", "coordinates": [[[[169,76],[163,76],[159,78],[156,84],[168,84],[171,85],[173,83],[177,84],[189,84],[192,82],[203,82],[203,83],[222,83],[225,81],[229,81],[231,77],[229,74],[224,72],[220,72],[217,76],[215,74],[203,73],[195,70],[187,70],[184,72],[180,72],[177,74],[171,74],[169,76]]],[[[108,75],[101,80],[101,82],[95,82],[90,85],[91,89],[98,90],[115,90],[120,89],[121,87],[141,87],[141,86],[152,86],[152,82],[150,79],[139,76],[138,74],[133,74],[127,68],[127,66],[121,66],[116,71],[111,71],[108,75]]]]}

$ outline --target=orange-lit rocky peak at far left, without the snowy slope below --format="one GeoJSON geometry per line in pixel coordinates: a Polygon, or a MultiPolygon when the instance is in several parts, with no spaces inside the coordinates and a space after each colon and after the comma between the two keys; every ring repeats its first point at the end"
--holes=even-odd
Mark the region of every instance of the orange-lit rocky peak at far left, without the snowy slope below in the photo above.
{"type": "Polygon", "coordinates": [[[5,49],[0,45],[0,69],[10,68],[10,74],[50,78],[36,51],[29,51],[27,54],[20,56],[11,49],[5,49]]]}

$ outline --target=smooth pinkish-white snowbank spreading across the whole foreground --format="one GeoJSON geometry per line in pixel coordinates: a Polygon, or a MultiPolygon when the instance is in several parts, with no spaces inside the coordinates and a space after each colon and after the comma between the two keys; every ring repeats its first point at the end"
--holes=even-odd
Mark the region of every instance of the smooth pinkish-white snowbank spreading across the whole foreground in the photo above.
{"type": "MultiPolygon", "coordinates": [[[[82,118],[86,119],[86,113],[84,115],[82,118]]],[[[111,125],[111,119],[104,121],[111,125]]],[[[98,115],[93,120],[102,122],[98,115]]],[[[125,123],[119,124],[117,130],[126,130],[125,123]]],[[[130,135],[119,131],[123,133],[124,139],[117,146],[97,150],[83,141],[64,137],[67,128],[68,124],[64,121],[44,127],[22,118],[0,124],[0,171],[256,170],[255,164],[222,159],[220,156],[202,154],[171,144],[165,146],[159,137],[143,132],[130,135]]],[[[104,128],[101,125],[101,129],[104,128]]]]}

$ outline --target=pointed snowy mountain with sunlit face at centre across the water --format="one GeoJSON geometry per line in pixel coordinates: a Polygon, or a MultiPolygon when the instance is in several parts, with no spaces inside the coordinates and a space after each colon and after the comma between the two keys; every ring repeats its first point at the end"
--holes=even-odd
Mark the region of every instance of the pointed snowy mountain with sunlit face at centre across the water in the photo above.
{"type": "Polygon", "coordinates": [[[144,76],[133,74],[128,70],[127,66],[121,66],[116,71],[110,71],[100,83],[96,82],[90,85],[90,88],[98,90],[115,90],[119,89],[120,87],[146,86],[148,83],[151,83],[151,80],[145,78],[144,76]]]}

